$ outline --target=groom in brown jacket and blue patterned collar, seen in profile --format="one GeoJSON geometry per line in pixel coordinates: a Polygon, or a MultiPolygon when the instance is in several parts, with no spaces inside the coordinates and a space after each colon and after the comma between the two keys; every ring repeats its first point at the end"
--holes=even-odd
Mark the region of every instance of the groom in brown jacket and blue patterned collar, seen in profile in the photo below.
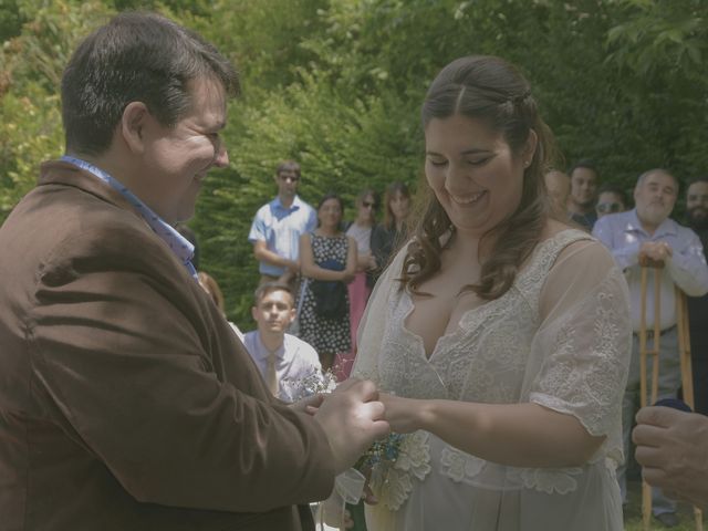
{"type": "Polygon", "coordinates": [[[371,382],[314,415],[272,398],[194,278],[173,226],[228,166],[237,92],[212,45],[155,14],[73,54],[67,156],[0,228],[3,531],[300,530],[296,506],[387,433],[371,382]]]}

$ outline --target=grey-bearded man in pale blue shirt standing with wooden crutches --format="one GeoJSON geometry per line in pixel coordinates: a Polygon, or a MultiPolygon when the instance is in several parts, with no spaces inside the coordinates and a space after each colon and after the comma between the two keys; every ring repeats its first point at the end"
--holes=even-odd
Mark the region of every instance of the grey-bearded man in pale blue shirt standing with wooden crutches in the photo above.
{"type": "MultiPolygon", "coordinates": [[[[634,329],[629,376],[623,400],[623,436],[625,458],[629,454],[629,435],[634,414],[639,402],[639,342],[641,323],[641,267],[649,259],[663,262],[654,270],[660,275],[660,353],[659,398],[676,397],[680,386],[680,364],[676,332],[676,300],[674,284],[686,294],[700,296],[708,292],[708,267],[700,239],[687,227],[669,219],[676,204],[678,181],[665,169],[650,169],[637,179],[634,189],[636,207],[633,210],[612,214],[597,220],[593,235],[612,251],[617,266],[625,272],[631,294],[634,329]]],[[[652,275],[649,275],[652,277],[652,275]]],[[[653,282],[649,283],[653,287],[653,282]]],[[[653,326],[654,289],[647,290],[647,327],[653,326]]],[[[647,333],[648,344],[653,344],[647,333]]],[[[652,360],[647,360],[650,374],[652,360]]],[[[626,499],[626,466],[617,469],[623,499],[626,499]]],[[[676,503],[658,489],[653,491],[654,516],[665,525],[678,524],[676,503]]]]}

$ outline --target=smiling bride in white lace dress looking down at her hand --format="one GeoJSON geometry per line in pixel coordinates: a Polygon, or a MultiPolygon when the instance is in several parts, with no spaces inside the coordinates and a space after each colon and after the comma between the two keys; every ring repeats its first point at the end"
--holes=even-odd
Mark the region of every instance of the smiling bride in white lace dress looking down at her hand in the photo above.
{"type": "Polygon", "coordinates": [[[421,114],[425,200],[369,301],[353,373],[408,434],[374,467],[368,529],[618,531],[622,273],[551,218],[550,132],[512,65],[454,61],[421,114]]]}

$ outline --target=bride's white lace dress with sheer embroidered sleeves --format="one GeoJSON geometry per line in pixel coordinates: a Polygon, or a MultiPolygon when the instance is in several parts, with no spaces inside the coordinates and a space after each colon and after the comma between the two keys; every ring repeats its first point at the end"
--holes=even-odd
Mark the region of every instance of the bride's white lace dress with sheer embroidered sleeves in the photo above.
{"type": "Polygon", "coordinates": [[[403,258],[369,301],[354,375],[413,398],[537,403],[606,438],[582,467],[533,469],[417,431],[393,466],[374,471],[369,531],[622,530],[614,470],[632,340],[626,283],[605,249],[577,230],[540,243],[512,288],[465,313],[429,357],[405,327],[413,301],[394,280],[403,258]]]}

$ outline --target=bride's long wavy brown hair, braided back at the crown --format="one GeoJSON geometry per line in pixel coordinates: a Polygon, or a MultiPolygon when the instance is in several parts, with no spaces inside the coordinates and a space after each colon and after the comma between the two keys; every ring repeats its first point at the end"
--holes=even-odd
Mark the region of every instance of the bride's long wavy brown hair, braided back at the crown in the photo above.
{"type": "MultiPolygon", "coordinates": [[[[523,173],[521,201],[513,214],[482,236],[493,237],[491,253],[482,263],[477,284],[465,287],[485,300],[498,299],[511,288],[519,268],[541,239],[549,218],[543,174],[549,167],[552,135],[539,116],[527,80],[511,64],[494,56],[472,55],[452,61],[433,81],[421,108],[423,127],[455,115],[487,123],[501,133],[513,155],[520,155],[531,132],[538,145],[523,173]]],[[[402,285],[414,292],[440,269],[441,239],[451,233],[445,209],[429,186],[420,186],[414,240],[402,271],[402,285]]]]}

